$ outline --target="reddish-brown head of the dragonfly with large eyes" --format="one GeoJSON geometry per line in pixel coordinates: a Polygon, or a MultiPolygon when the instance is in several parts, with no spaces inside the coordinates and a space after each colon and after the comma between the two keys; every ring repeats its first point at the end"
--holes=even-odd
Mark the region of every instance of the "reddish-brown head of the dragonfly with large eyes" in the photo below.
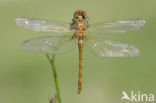
{"type": "Polygon", "coordinates": [[[74,13],[74,18],[77,18],[77,19],[87,19],[88,16],[87,16],[87,12],[85,10],[76,10],[75,13],[74,13]]]}

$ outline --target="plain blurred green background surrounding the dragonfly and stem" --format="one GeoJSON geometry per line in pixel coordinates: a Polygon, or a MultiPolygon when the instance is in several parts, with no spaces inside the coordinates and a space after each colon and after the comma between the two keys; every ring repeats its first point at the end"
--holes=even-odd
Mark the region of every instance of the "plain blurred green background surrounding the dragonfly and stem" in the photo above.
{"type": "Polygon", "coordinates": [[[87,10],[90,24],[140,18],[147,25],[138,31],[105,36],[135,45],[142,53],[139,57],[99,58],[84,51],[81,95],[76,93],[78,50],[58,55],[63,103],[121,103],[123,90],[156,96],[156,0],[0,0],[0,103],[49,103],[56,93],[45,55],[19,49],[24,40],[48,34],[19,28],[14,19],[70,22],[77,9],[87,10]]]}

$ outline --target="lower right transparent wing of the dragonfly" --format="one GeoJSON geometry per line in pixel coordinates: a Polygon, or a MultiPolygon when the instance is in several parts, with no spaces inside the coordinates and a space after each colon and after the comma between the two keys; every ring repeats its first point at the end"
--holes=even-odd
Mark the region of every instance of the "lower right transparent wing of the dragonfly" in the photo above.
{"type": "Polygon", "coordinates": [[[140,51],[127,43],[92,37],[86,41],[89,52],[99,57],[135,57],[140,51]]]}

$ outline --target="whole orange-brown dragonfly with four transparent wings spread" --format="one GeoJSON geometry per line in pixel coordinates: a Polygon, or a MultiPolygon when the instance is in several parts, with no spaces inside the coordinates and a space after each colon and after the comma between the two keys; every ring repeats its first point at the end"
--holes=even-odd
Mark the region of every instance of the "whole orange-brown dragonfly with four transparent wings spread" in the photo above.
{"type": "Polygon", "coordinates": [[[90,53],[99,57],[139,56],[139,49],[133,45],[107,40],[96,35],[120,34],[128,31],[135,31],[144,27],[146,24],[146,21],[141,19],[100,22],[95,24],[89,24],[88,20],[87,12],[81,9],[74,12],[71,23],[25,17],[15,19],[16,25],[26,30],[56,34],[24,41],[20,47],[25,51],[44,52],[46,54],[64,54],[72,51],[76,47],[76,44],[78,44],[78,94],[80,94],[82,90],[84,47],[90,53]]]}

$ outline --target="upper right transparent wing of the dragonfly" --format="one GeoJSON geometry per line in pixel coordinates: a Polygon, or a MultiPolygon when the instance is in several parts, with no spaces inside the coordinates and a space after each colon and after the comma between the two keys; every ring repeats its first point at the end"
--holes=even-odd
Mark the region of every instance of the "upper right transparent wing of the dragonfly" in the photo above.
{"type": "Polygon", "coordinates": [[[144,20],[123,20],[108,23],[98,23],[90,25],[87,29],[87,32],[91,34],[124,33],[127,31],[138,30],[144,27],[145,24],[146,22],[144,20]]]}

